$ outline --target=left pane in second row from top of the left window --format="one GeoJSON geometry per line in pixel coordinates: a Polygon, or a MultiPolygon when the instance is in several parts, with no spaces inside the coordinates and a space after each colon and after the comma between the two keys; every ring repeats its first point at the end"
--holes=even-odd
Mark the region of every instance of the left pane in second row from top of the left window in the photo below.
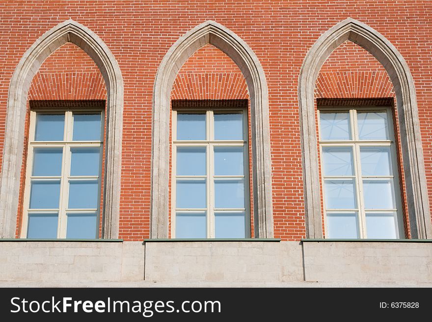
{"type": "Polygon", "coordinates": [[[61,175],[63,149],[33,149],[32,175],[61,175]]]}

